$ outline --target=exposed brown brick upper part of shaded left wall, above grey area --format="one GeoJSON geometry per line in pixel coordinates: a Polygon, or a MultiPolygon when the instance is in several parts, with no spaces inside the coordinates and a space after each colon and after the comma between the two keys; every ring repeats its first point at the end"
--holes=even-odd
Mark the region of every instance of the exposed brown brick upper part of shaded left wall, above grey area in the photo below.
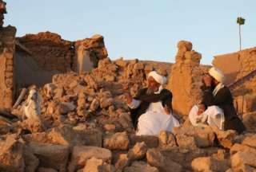
{"type": "Polygon", "coordinates": [[[71,68],[72,42],[65,41],[56,33],[26,34],[17,40],[29,49],[34,61],[44,70],[67,72],[71,68]]]}

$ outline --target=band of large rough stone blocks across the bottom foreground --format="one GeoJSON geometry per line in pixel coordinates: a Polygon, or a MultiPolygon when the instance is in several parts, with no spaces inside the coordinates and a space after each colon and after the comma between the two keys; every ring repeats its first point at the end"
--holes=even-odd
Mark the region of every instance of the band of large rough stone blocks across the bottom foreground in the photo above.
{"type": "Polygon", "coordinates": [[[256,135],[182,125],[155,136],[104,134],[82,125],[2,135],[4,171],[254,171],[256,135]],[[214,146],[214,140],[222,147],[214,146]]]}

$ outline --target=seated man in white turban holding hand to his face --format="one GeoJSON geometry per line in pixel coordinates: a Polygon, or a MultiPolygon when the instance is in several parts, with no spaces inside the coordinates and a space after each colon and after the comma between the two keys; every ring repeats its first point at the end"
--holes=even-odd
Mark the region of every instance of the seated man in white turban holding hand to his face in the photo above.
{"type": "Polygon", "coordinates": [[[218,68],[210,68],[209,74],[203,77],[202,104],[194,106],[189,114],[193,125],[208,123],[220,130],[235,130],[238,133],[246,130],[238,118],[233,105],[230,89],[223,83],[225,76],[218,68]]]}

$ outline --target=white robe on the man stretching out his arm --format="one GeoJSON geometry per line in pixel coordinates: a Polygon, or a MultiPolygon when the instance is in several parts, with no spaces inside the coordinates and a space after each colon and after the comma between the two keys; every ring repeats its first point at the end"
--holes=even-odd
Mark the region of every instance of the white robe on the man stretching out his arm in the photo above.
{"type": "Polygon", "coordinates": [[[170,114],[166,114],[162,102],[151,103],[146,113],[138,118],[138,132],[136,135],[158,135],[160,131],[172,131],[178,127],[178,120],[170,114]]]}

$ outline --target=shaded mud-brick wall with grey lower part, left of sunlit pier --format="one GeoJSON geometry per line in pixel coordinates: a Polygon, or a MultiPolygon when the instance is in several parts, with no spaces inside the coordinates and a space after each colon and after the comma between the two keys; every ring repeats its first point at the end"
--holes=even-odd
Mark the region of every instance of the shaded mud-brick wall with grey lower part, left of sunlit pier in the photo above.
{"type": "Polygon", "coordinates": [[[18,88],[49,83],[54,74],[71,70],[72,42],[56,33],[27,34],[18,37],[16,45],[18,88]]]}

